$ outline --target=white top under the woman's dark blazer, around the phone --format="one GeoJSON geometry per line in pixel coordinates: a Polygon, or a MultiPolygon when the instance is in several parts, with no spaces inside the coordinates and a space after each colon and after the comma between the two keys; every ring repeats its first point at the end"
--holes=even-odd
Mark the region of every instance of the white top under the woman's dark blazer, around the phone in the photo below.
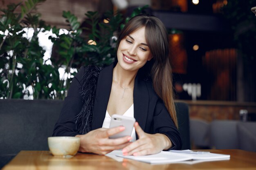
{"type": "MultiPolygon", "coordinates": [[[[132,106],[130,106],[130,108],[128,108],[128,110],[126,110],[126,112],[124,113],[124,116],[127,117],[134,117],[134,108],[133,108],[133,104],[132,106]]],[[[110,126],[110,121],[111,121],[111,117],[108,113],[108,110],[106,110],[106,115],[105,115],[105,119],[103,121],[103,125],[102,128],[109,128],[110,126]]],[[[130,141],[136,141],[136,135],[135,135],[135,128],[133,127],[132,129],[132,135],[131,135],[132,139],[130,141]]]]}

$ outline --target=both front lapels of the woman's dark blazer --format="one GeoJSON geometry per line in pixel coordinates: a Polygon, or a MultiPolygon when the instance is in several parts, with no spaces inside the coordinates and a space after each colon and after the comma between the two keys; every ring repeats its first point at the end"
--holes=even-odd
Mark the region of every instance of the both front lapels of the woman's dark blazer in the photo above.
{"type": "MultiPolygon", "coordinates": [[[[108,107],[112,79],[113,64],[103,68],[99,74],[93,110],[92,130],[102,127],[108,107]]],[[[136,76],[133,90],[134,117],[143,130],[145,130],[148,115],[148,102],[149,96],[146,83],[143,80],[139,80],[139,76],[136,76]]],[[[137,134],[136,138],[138,139],[137,134]]]]}

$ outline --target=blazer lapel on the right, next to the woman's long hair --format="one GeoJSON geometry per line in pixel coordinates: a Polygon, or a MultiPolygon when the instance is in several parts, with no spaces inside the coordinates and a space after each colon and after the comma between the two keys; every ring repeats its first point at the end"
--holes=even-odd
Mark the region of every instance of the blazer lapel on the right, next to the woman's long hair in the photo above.
{"type": "MultiPolygon", "coordinates": [[[[148,102],[149,96],[146,83],[143,80],[139,80],[139,76],[136,76],[133,90],[134,118],[139,122],[139,126],[143,130],[145,130],[148,115],[148,102]]],[[[138,139],[137,134],[136,138],[138,139]]]]}

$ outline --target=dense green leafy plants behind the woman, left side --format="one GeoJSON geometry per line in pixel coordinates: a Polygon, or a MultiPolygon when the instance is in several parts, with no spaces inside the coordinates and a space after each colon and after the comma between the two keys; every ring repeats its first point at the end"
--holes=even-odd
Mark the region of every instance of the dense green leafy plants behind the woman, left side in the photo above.
{"type": "MultiPolygon", "coordinates": [[[[94,64],[109,65],[115,60],[117,33],[129,18],[107,11],[103,17],[97,12],[85,13],[85,26],[69,11],[63,11],[69,29],[47,26],[34,12],[45,0],[27,0],[25,4],[9,4],[0,16],[0,98],[24,98],[33,89],[34,99],[64,99],[75,72],[72,68],[94,64]],[[21,13],[16,9],[21,8],[21,13]],[[103,21],[105,19],[105,22],[103,21]],[[107,22],[106,22],[107,21],[107,22]],[[26,29],[34,30],[31,39],[23,36],[26,29]],[[38,44],[38,33],[51,31],[54,43],[51,65],[43,62],[45,50],[38,44]],[[93,42],[93,43],[92,43],[93,42]],[[67,78],[59,78],[59,68],[67,78]]],[[[137,15],[144,8],[135,9],[137,15]]]]}

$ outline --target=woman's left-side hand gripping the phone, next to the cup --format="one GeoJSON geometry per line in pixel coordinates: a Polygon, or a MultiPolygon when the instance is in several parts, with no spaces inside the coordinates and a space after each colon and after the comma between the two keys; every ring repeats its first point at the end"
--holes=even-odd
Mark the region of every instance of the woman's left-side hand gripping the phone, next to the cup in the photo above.
{"type": "Polygon", "coordinates": [[[76,135],[81,138],[79,152],[92,152],[100,155],[105,155],[112,150],[122,149],[129,145],[132,139],[130,136],[120,137],[117,139],[109,139],[109,136],[115,135],[124,131],[125,127],[115,128],[99,128],[92,130],[85,135],[76,135]]]}

